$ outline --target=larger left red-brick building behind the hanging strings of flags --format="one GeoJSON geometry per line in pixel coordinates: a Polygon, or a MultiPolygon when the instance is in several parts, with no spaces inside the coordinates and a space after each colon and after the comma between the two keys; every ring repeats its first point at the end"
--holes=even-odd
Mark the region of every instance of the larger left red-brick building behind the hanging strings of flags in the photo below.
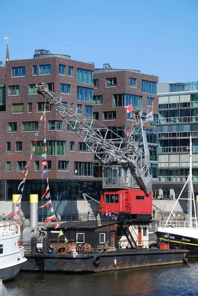
{"type": "MultiPolygon", "coordinates": [[[[67,55],[50,54],[46,50],[36,50],[33,59],[6,61],[5,67],[0,67],[0,94],[5,94],[5,100],[2,95],[0,97],[1,200],[11,200],[12,194],[20,193],[17,187],[24,178],[22,171],[32,153],[45,104],[43,97],[36,93],[36,83],[44,82],[49,90],[92,115],[93,71],[93,64],[71,60],[67,55]]],[[[82,192],[99,198],[101,182],[93,178],[94,155],[48,103],[45,109],[46,135],[41,127],[23,200],[29,200],[32,193],[41,197],[45,190],[41,178],[45,170],[41,165],[44,138],[52,199],[78,201],[83,198],[82,192]]],[[[68,212],[77,212],[75,204],[68,212]]]]}

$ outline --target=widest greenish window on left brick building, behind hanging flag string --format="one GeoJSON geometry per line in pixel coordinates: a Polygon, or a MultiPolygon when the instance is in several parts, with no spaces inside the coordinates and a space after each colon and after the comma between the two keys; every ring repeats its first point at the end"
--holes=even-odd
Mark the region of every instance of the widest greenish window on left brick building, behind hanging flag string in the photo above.
{"type": "MultiPolygon", "coordinates": [[[[35,147],[34,155],[38,156],[44,153],[43,141],[37,141],[36,144],[32,142],[32,151],[35,147]]],[[[66,155],[66,142],[65,141],[47,141],[46,143],[47,155],[66,155]]]]}

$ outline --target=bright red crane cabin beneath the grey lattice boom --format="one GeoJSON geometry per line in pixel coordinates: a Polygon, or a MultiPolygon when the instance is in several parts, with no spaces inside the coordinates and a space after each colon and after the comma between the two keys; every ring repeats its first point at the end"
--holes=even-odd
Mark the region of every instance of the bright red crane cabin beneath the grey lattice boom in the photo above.
{"type": "Polygon", "coordinates": [[[101,194],[100,212],[112,211],[130,213],[131,216],[152,214],[152,191],[146,195],[144,190],[122,189],[104,190],[101,194]]]}

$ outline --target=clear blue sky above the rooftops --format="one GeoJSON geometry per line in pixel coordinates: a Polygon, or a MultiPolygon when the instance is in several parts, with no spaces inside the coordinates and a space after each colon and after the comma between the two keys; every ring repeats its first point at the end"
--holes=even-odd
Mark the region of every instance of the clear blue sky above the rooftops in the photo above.
{"type": "Polygon", "coordinates": [[[198,0],[1,0],[0,60],[35,49],[140,70],[160,82],[198,80],[198,0]]]}

